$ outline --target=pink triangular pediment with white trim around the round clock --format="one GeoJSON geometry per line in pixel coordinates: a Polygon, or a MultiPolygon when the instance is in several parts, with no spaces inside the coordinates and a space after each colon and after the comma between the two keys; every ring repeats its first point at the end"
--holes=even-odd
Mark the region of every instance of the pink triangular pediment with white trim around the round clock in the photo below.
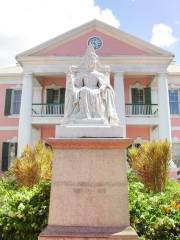
{"type": "Polygon", "coordinates": [[[83,56],[88,39],[96,36],[102,40],[97,50],[99,56],[167,56],[173,55],[159,47],[138,39],[117,28],[93,20],[62,34],[33,49],[17,55],[23,56],[83,56]]]}

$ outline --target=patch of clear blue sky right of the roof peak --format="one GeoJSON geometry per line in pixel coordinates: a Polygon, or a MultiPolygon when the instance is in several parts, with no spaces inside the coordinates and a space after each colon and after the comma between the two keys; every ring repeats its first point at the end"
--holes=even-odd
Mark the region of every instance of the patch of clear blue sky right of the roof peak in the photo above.
{"type": "Polygon", "coordinates": [[[120,22],[120,29],[150,42],[155,24],[164,24],[177,41],[160,46],[171,51],[180,64],[180,0],[95,0],[101,8],[109,8],[120,22]]]}

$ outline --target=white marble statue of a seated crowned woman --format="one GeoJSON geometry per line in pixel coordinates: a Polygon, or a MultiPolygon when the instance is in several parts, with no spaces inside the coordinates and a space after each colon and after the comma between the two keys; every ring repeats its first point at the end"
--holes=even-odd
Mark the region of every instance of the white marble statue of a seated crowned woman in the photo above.
{"type": "Polygon", "coordinates": [[[92,45],[88,46],[82,64],[70,67],[64,123],[119,124],[110,69],[100,64],[92,45]]]}

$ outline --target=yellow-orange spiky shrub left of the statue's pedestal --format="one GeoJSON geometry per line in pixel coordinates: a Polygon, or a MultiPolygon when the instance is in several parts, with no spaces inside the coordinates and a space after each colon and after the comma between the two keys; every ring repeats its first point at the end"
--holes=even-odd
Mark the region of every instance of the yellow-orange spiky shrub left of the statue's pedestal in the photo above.
{"type": "Polygon", "coordinates": [[[33,186],[40,180],[50,180],[52,175],[52,150],[39,142],[34,147],[27,146],[22,156],[17,158],[10,172],[19,186],[33,186]]]}

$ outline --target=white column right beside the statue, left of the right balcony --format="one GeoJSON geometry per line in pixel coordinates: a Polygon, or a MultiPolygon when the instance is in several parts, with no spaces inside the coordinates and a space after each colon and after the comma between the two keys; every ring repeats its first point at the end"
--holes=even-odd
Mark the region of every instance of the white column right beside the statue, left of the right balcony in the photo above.
{"type": "Polygon", "coordinates": [[[114,74],[114,92],[115,105],[119,117],[120,125],[124,127],[124,136],[126,137],[126,116],[125,116],[125,94],[124,94],[124,73],[116,72],[114,74]]]}

